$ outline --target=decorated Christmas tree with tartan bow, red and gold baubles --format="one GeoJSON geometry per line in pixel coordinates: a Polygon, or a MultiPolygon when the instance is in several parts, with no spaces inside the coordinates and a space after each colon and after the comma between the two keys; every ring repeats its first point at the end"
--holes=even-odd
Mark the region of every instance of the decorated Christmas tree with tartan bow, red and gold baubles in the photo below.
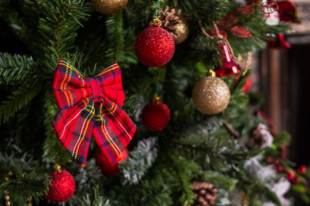
{"type": "Polygon", "coordinates": [[[307,169],[236,62],[288,31],[277,6],[0,0],[0,206],[290,205],[307,169]]]}

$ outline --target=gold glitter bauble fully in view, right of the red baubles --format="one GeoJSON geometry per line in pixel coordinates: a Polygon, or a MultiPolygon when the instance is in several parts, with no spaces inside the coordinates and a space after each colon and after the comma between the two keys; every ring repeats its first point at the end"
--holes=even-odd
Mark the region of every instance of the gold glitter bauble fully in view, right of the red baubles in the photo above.
{"type": "Polygon", "coordinates": [[[227,107],[230,91],[227,84],[221,79],[205,77],[195,84],[192,98],[194,105],[200,112],[214,115],[227,107]]]}

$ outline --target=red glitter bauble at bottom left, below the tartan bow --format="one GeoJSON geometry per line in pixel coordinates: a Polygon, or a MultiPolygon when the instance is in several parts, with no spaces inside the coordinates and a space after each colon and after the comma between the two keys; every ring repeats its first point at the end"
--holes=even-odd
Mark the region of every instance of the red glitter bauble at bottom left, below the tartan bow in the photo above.
{"type": "Polygon", "coordinates": [[[44,196],[51,202],[61,203],[69,200],[75,191],[75,181],[70,172],[66,170],[54,171],[51,174],[52,182],[49,192],[44,196]]]}

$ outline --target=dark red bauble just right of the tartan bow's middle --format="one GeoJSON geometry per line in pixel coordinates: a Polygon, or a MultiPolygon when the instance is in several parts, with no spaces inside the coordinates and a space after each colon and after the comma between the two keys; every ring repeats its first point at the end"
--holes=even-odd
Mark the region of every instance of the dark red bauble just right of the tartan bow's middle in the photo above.
{"type": "Polygon", "coordinates": [[[162,102],[147,104],[142,110],[142,123],[150,130],[160,131],[170,121],[170,110],[162,102]]]}

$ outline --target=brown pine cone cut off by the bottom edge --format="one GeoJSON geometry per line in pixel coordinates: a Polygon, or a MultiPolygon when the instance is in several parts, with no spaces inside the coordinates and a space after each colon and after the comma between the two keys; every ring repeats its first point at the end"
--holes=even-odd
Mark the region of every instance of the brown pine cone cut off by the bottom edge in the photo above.
{"type": "Polygon", "coordinates": [[[192,182],[196,201],[192,206],[214,206],[217,198],[217,188],[207,182],[192,182]]]}

